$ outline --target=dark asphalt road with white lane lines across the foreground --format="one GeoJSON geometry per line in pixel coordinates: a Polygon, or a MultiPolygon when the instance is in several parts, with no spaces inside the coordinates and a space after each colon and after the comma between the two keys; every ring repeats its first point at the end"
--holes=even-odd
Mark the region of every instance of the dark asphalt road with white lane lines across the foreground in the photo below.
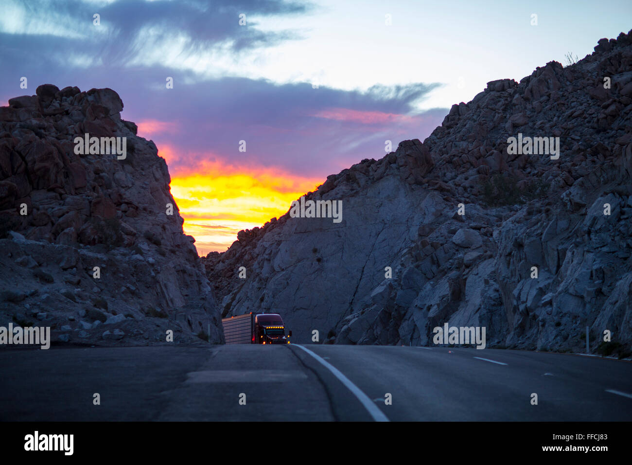
{"type": "Polygon", "coordinates": [[[302,347],[309,352],[298,345],[0,350],[0,420],[632,420],[627,361],[302,347]]]}

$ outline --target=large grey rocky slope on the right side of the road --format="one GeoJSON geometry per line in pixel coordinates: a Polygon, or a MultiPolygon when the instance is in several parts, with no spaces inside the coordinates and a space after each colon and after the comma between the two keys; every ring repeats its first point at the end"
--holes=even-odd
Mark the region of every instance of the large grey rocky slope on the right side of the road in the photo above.
{"type": "Polygon", "coordinates": [[[341,344],[432,344],[449,323],[485,326],[488,347],[579,351],[590,326],[593,350],[609,330],[624,354],[631,113],[632,34],[575,65],[489,82],[423,144],[306,195],[342,200],[341,223],[286,213],[209,254],[222,314],[279,312],[297,342],[318,330],[341,344]],[[522,136],[559,138],[559,158],[516,153],[509,138],[522,136]]]}

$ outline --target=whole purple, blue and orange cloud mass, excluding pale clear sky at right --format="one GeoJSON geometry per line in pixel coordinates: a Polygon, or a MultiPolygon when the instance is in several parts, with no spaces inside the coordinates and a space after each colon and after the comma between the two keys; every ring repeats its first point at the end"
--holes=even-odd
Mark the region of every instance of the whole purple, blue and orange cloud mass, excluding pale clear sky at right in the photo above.
{"type": "Polygon", "coordinates": [[[0,61],[10,72],[0,73],[0,100],[34,94],[44,83],[116,90],[123,118],[135,121],[138,135],[153,139],[166,159],[185,231],[200,253],[224,250],[239,230],[285,213],[327,175],[384,156],[385,140],[396,146],[423,138],[446,112],[416,108],[439,83],[315,89],[301,80],[252,77],[253,63],[265,61],[270,47],[307,33],[271,27],[272,18],[305,18],[317,9],[311,3],[5,4],[0,61]],[[97,13],[100,26],[93,25],[97,13]],[[246,26],[239,24],[242,13],[246,26]]]}

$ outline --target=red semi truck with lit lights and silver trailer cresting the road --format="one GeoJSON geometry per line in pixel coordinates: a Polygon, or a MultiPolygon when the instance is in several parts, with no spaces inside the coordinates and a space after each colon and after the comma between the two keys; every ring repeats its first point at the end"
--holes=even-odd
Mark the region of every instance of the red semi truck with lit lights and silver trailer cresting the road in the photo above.
{"type": "Polygon", "coordinates": [[[226,344],[289,344],[278,313],[246,313],[222,319],[226,344]]]}

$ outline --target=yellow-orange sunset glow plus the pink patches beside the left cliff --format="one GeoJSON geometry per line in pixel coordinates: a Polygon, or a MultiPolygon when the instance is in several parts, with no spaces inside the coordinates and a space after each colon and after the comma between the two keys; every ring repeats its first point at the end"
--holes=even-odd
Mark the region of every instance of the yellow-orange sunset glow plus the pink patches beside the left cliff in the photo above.
{"type": "MultiPolygon", "coordinates": [[[[138,123],[138,135],[148,139],[175,132],[178,125],[171,121],[138,123]]],[[[192,153],[161,140],[157,146],[169,167],[171,195],[185,220],[183,229],[195,237],[200,255],[226,251],[240,230],[279,218],[292,201],[324,182],[283,168],[234,166],[214,152],[192,153]]]]}

